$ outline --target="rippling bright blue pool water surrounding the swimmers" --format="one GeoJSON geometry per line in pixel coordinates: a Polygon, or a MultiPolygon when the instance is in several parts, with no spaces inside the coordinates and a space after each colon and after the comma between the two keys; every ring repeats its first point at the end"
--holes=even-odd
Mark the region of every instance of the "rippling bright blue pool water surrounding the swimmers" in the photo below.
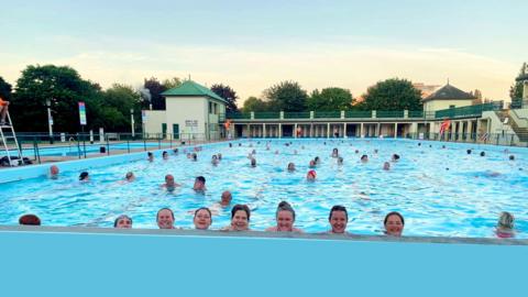
{"type": "Polygon", "coordinates": [[[232,205],[253,209],[253,230],[274,226],[277,204],[287,200],[297,212],[296,227],[307,232],[328,230],[328,212],[339,204],[349,210],[348,231],[356,234],[381,234],[384,216],[395,210],[406,219],[405,235],[492,238],[499,212],[509,211],[516,217],[517,238],[528,238],[526,148],[505,153],[502,146],[440,142],[418,146],[417,141],[406,140],[272,140],[266,151],[266,142],[204,146],[198,162],[183,153],[163,161],[157,153],[154,163],[87,168],[91,177],[87,184],[77,182],[78,172],[62,173],[57,180],[40,177],[2,184],[0,224],[16,224],[19,216],[32,212],[47,226],[111,227],[116,217],[127,213],[134,228],[157,228],[156,211],[169,207],[176,226],[191,228],[190,212],[208,206],[218,213],[211,228],[220,229],[229,224],[229,209],[216,202],[223,190],[231,190],[232,205]],[[286,146],[289,141],[293,144],[286,146]],[[333,147],[344,157],[342,166],[330,156],[333,147]],[[473,153],[468,155],[466,148],[473,153]],[[252,150],[256,150],[255,168],[249,166],[252,150]],[[481,151],[486,156],[481,157],[481,151]],[[210,158],[217,153],[223,160],[213,166],[210,158]],[[402,158],[383,170],[394,153],[402,158]],[[362,154],[369,155],[369,163],[360,162],[362,154]],[[516,160],[508,161],[509,154],[516,160]],[[322,163],[316,168],[317,180],[308,183],[308,163],[315,156],[322,163]],[[296,164],[295,173],[286,170],[288,162],[296,164]],[[129,170],[136,182],[121,184],[129,170]],[[173,174],[183,186],[174,193],[162,190],[165,174],[173,174]],[[207,179],[206,195],[191,189],[198,175],[207,179]]]}

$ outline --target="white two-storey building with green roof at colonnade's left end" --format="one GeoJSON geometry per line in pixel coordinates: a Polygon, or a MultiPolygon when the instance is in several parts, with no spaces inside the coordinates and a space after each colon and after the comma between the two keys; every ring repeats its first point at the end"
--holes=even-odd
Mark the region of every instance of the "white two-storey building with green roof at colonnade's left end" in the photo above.
{"type": "Polygon", "coordinates": [[[164,139],[215,140],[224,134],[221,122],[227,101],[209,88],[193,80],[162,94],[165,110],[145,110],[144,132],[164,139]]]}

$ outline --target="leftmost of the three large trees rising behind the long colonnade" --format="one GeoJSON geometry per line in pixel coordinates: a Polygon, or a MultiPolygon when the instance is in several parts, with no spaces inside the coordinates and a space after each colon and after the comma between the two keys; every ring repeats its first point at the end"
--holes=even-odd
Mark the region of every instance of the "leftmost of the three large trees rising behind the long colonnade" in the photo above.
{"type": "Polygon", "coordinates": [[[308,95],[298,82],[282,81],[264,90],[270,111],[305,111],[308,95]]]}

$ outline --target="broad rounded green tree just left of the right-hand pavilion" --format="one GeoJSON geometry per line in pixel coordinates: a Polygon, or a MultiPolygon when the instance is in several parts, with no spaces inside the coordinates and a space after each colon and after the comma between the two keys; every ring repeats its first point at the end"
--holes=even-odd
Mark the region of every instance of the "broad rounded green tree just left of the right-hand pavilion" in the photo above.
{"type": "Polygon", "coordinates": [[[407,79],[392,78],[370,87],[361,105],[365,110],[421,110],[421,91],[407,79]]]}

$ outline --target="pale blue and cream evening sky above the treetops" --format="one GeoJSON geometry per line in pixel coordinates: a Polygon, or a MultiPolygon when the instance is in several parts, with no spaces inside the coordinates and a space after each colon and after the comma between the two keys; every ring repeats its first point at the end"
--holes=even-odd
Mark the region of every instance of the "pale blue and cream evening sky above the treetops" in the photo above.
{"type": "Polygon", "coordinates": [[[527,12],[526,0],[0,0],[0,76],[54,64],[105,88],[190,77],[229,85],[239,106],[283,80],[358,97],[395,77],[509,100],[527,12]]]}

